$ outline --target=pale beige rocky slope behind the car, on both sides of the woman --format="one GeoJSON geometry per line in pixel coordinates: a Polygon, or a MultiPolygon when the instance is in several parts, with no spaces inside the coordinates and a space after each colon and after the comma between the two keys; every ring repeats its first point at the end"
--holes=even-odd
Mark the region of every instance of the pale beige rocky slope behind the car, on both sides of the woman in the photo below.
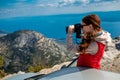
{"type": "MultiPolygon", "coordinates": [[[[48,74],[56,70],[59,70],[63,65],[68,65],[68,64],[70,64],[70,61],[54,65],[52,68],[42,69],[38,73],[48,74]]],[[[108,46],[107,50],[105,51],[101,61],[101,70],[120,73],[120,37],[116,37],[115,39],[113,39],[113,43],[110,46],[108,46]]],[[[24,72],[22,73],[24,74],[24,72]]],[[[8,75],[4,79],[13,75],[8,75]]]]}

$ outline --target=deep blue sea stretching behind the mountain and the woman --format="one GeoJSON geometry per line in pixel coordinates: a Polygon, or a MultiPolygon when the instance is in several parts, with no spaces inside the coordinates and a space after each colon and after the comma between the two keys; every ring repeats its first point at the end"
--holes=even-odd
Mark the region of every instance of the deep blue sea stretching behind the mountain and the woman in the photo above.
{"type": "Polygon", "coordinates": [[[108,31],[112,38],[120,36],[120,11],[1,18],[0,31],[12,33],[34,30],[48,38],[65,39],[66,27],[81,23],[81,19],[88,14],[97,14],[101,19],[102,29],[108,31]]]}

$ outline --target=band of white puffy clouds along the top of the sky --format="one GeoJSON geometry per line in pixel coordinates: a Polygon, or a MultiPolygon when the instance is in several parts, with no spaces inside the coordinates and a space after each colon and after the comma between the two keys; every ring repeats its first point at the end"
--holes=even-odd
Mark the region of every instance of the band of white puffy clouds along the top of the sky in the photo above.
{"type": "Polygon", "coordinates": [[[118,2],[119,0],[61,0],[56,2],[39,3],[40,7],[70,7],[70,6],[81,6],[89,4],[99,4],[107,2],[118,2]]]}

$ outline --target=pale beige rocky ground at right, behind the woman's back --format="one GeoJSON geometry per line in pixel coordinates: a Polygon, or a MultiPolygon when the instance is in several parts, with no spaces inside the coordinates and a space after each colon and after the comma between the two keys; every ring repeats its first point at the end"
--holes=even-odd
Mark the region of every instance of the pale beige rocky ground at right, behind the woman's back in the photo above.
{"type": "Polygon", "coordinates": [[[113,44],[108,47],[108,51],[105,51],[101,61],[101,69],[120,73],[120,47],[118,47],[120,39],[114,39],[113,44]]]}

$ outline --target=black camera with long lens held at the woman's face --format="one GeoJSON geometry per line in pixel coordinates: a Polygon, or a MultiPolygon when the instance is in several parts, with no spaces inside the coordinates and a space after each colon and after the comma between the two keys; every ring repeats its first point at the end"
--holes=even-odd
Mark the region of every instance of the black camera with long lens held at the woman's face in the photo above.
{"type": "MultiPolygon", "coordinates": [[[[83,26],[80,23],[74,25],[74,33],[76,33],[76,38],[81,38],[81,28],[82,27],[83,26]]],[[[66,27],[66,33],[68,33],[68,28],[69,28],[69,26],[66,27]]]]}

